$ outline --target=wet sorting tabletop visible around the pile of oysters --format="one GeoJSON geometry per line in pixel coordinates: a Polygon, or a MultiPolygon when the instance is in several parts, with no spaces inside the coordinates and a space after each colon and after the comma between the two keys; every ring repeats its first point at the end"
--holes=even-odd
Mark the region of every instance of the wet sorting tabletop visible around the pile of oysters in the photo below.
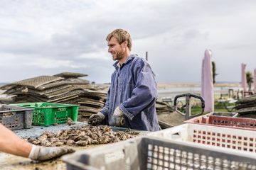
{"type": "MultiPolygon", "coordinates": [[[[13,132],[16,133],[19,137],[28,138],[28,137],[38,137],[43,132],[49,131],[49,132],[58,132],[60,130],[68,130],[70,128],[78,128],[82,125],[87,125],[87,122],[76,122],[75,125],[68,125],[67,123],[59,124],[56,126],[33,126],[31,129],[23,129],[23,130],[13,130],[13,132]]],[[[113,131],[124,131],[127,130],[126,128],[112,128],[113,131]]],[[[132,131],[138,131],[138,130],[132,130],[132,131]]],[[[148,133],[147,131],[139,131],[140,135],[145,135],[148,133]]],[[[86,147],[78,147],[78,146],[71,146],[75,150],[81,150],[81,149],[90,149],[92,147],[100,147],[102,145],[88,145],[86,147]]],[[[0,152],[0,169],[1,170],[14,170],[14,169],[21,169],[21,170],[35,170],[35,169],[46,169],[46,170],[65,170],[66,165],[65,163],[60,159],[52,159],[47,162],[34,162],[31,161],[31,159],[23,158],[23,157],[17,157],[11,154],[5,154],[0,152]]]]}

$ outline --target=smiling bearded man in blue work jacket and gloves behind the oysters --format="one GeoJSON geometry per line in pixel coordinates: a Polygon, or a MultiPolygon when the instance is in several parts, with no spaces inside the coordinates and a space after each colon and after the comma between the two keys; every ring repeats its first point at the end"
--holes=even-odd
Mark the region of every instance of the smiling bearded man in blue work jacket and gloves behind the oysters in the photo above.
{"type": "Polygon", "coordinates": [[[91,115],[89,124],[114,125],[137,130],[156,131],[156,81],[147,62],[131,55],[132,38],[126,30],[117,29],[107,35],[108,52],[114,63],[114,73],[105,107],[91,115]]]}

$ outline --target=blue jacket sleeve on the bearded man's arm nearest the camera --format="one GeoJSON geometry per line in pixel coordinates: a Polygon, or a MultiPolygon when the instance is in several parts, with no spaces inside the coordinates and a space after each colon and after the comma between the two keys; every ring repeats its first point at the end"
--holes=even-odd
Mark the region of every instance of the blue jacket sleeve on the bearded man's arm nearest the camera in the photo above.
{"type": "Polygon", "coordinates": [[[132,120],[135,115],[142,112],[145,108],[154,105],[157,98],[156,81],[154,73],[148,63],[142,62],[134,68],[136,79],[135,88],[132,96],[120,104],[124,115],[132,120]]]}

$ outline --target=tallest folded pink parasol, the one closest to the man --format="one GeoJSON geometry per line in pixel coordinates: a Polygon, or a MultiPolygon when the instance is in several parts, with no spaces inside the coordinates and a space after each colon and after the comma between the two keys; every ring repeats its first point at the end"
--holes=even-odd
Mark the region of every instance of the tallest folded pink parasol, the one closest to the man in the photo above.
{"type": "Polygon", "coordinates": [[[213,93],[213,69],[210,57],[212,56],[210,50],[205,51],[202,64],[201,75],[201,95],[205,100],[205,111],[214,111],[214,93],[213,93]]]}

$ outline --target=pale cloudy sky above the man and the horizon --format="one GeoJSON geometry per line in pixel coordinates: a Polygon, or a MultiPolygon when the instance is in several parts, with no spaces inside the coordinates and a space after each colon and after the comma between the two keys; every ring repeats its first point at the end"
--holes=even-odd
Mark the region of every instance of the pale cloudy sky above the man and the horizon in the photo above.
{"type": "Polygon", "coordinates": [[[60,72],[108,83],[114,61],[107,35],[123,28],[132,54],[156,81],[200,82],[206,49],[216,81],[239,82],[241,63],[256,68],[256,1],[0,0],[0,82],[60,72]]]}

